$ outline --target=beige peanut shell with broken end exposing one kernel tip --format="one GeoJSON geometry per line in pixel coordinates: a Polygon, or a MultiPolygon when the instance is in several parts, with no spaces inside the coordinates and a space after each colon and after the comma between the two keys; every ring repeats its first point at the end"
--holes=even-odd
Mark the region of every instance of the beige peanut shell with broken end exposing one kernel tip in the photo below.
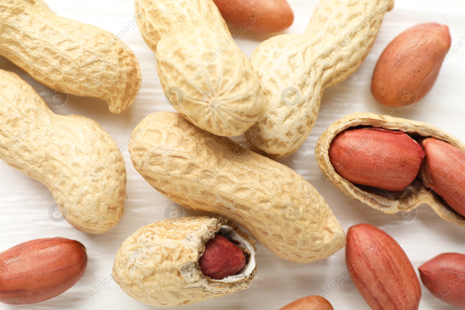
{"type": "Polygon", "coordinates": [[[153,306],[183,306],[235,293],[255,277],[255,241],[220,216],[173,218],[140,228],[123,242],[113,279],[129,296],[153,306]],[[198,261],[215,232],[246,254],[246,265],[222,280],[206,277],[198,261]]]}

